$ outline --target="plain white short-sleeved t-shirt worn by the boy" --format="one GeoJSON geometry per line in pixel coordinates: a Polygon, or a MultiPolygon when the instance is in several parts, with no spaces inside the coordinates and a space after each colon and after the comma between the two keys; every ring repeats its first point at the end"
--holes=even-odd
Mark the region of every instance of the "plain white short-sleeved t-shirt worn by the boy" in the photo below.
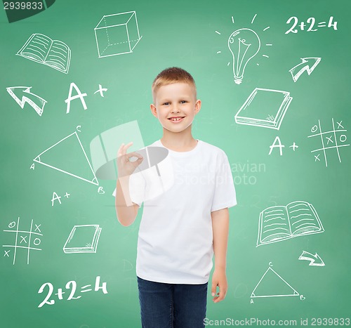
{"type": "MultiPolygon", "coordinates": [[[[164,147],[160,140],[152,146],[164,147]]],[[[211,212],[237,204],[232,172],[225,152],[201,140],[188,152],[168,150],[168,158],[173,185],[161,195],[145,198],[145,178],[130,179],[132,202],[144,202],[136,273],[153,282],[204,284],[212,268],[211,212]]]]}

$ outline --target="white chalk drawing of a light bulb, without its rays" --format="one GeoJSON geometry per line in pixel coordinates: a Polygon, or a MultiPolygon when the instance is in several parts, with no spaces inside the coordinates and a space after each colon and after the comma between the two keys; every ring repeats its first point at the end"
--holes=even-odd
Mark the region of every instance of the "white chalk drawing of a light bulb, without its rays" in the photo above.
{"type": "Polygon", "coordinates": [[[237,29],[230,34],[228,47],[233,56],[234,82],[241,84],[249,61],[260,51],[260,38],[252,29],[237,29]]]}

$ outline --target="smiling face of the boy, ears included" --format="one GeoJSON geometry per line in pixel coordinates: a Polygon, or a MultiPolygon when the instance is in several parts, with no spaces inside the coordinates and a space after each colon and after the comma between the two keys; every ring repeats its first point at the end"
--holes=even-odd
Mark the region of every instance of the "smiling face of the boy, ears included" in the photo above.
{"type": "Polygon", "coordinates": [[[196,99],[194,86],[187,83],[161,86],[154,94],[154,104],[150,105],[152,114],[171,132],[191,129],[200,107],[201,100],[196,99]]]}

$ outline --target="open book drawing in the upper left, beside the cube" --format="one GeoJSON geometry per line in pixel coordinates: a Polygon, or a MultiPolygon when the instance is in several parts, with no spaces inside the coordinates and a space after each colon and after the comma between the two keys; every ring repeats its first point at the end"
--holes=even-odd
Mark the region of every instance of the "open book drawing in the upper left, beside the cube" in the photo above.
{"type": "Polygon", "coordinates": [[[71,50],[67,44],[38,33],[32,34],[16,55],[50,66],[65,74],[68,73],[71,60],[71,50]]]}

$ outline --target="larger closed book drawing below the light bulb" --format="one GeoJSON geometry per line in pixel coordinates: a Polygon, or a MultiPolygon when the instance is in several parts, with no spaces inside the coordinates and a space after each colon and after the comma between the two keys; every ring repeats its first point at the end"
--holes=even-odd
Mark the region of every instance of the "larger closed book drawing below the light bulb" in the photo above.
{"type": "Polygon", "coordinates": [[[279,130],[292,99],[287,91],[255,88],[235,114],[235,122],[279,130]]]}

